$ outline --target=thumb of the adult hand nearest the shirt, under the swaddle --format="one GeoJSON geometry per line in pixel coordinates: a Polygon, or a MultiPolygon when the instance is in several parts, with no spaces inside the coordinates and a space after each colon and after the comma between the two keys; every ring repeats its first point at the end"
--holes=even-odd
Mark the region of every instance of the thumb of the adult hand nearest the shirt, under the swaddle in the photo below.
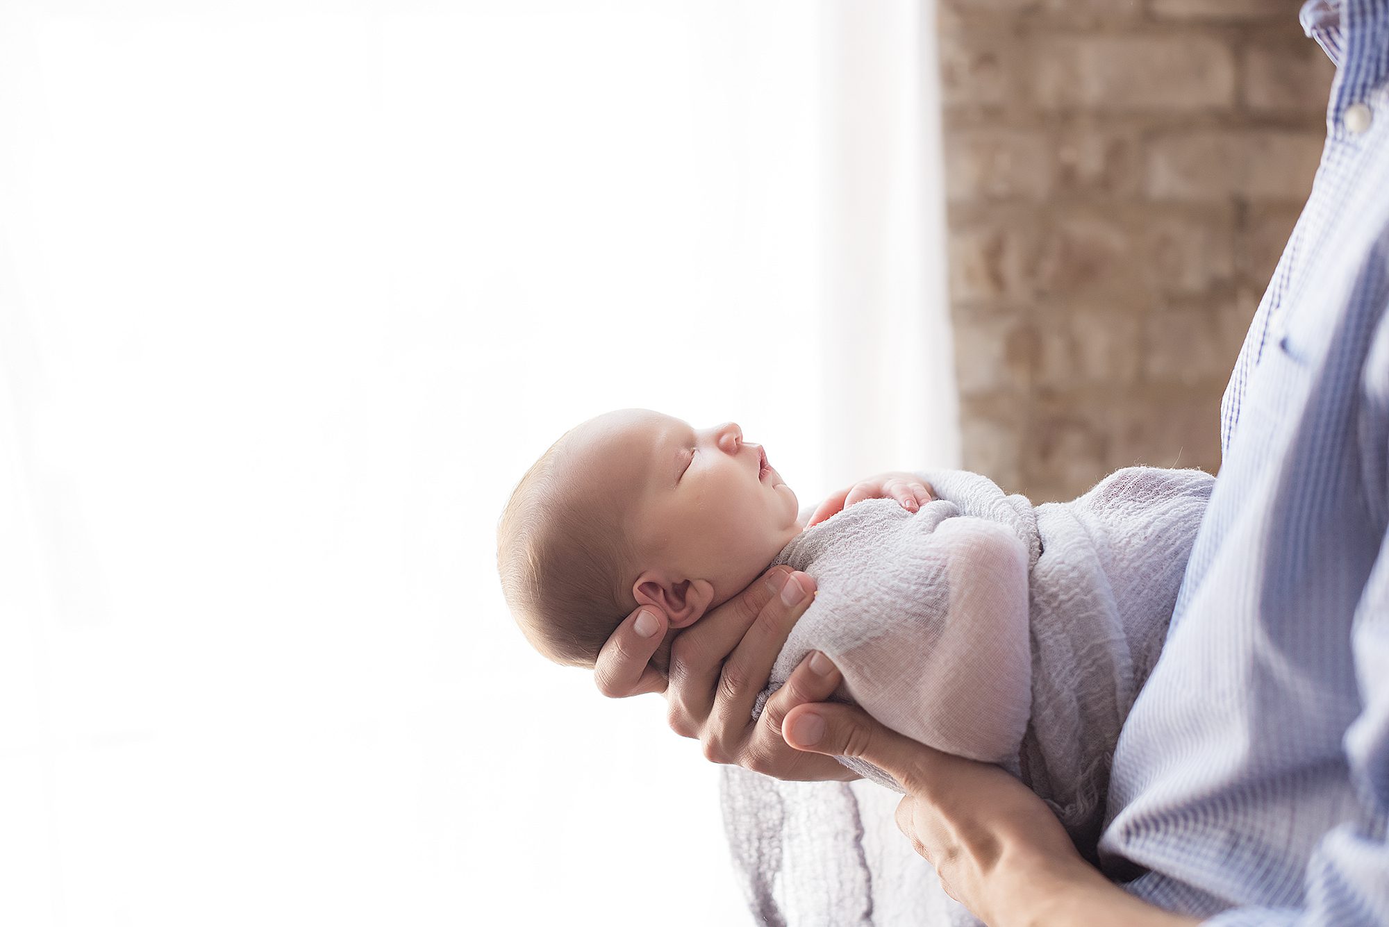
{"type": "Polygon", "coordinates": [[[911,794],[924,788],[924,766],[942,755],[899,734],[861,708],[835,702],[797,705],[786,712],[782,738],[796,749],[867,760],[911,794]]]}

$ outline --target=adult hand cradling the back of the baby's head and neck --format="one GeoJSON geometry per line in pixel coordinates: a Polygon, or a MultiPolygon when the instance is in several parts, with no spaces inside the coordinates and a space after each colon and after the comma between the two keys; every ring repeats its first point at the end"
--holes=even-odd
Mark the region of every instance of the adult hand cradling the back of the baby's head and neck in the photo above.
{"type": "Polygon", "coordinates": [[[782,740],[782,719],[789,708],[824,701],[839,686],[839,672],[824,656],[822,663],[803,661],[753,720],[753,704],[814,591],[815,580],[806,573],[788,566],[767,570],[675,637],[668,683],[650,663],[665,637],[665,616],[638,608],[603,645],[593,667],[594,681],[610,698],[665,692],[671,729],[699,738],[704,756],[715,763],[736,763],[788,780],[857,779],[833,758],[792,749],[782,740]],[[821,666],[825,672],[817,672],[821,666]]]}

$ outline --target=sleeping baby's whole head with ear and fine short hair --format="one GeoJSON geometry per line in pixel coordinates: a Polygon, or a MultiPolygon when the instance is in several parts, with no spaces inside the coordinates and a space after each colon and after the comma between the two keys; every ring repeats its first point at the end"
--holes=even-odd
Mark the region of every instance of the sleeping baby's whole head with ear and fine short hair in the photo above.
{"type": "Polygon", "coordinates": [[[536,649],[593,666],[638,605],[681,629],[740,593],[800,533],[797,515],[796,494],[732,422],[608,412],[567,432],[511,494],[501,588],[536,649]]]}

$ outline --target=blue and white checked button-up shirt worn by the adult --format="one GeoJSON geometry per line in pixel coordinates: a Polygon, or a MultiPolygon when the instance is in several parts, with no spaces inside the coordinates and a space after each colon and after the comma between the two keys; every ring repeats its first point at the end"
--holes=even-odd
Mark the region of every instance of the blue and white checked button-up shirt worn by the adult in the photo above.
{"type": "Polygon", "coordinates": [[[1389,0],[1301,18],[1338,65],[1326,147],[1100,842],[1110,878],[1221,927],[1389,924],[1389,0]]]}

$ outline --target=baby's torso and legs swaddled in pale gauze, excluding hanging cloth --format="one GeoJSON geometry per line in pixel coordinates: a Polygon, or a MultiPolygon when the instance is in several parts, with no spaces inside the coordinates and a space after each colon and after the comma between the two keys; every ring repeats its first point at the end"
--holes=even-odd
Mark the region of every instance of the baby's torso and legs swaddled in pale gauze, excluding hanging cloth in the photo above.
{"type": "Polygon", "coordinates": [[[767,691],[824,651],[845,674],[842,697],[914,740],[1013,772],[1086,852],[1213,477],[1132,468],[1033,508],[974,473],[924,476],[939,500],[920,513],[863,502],[782,551],[778,562],[815,576],[820,595],[767,691]]]}

